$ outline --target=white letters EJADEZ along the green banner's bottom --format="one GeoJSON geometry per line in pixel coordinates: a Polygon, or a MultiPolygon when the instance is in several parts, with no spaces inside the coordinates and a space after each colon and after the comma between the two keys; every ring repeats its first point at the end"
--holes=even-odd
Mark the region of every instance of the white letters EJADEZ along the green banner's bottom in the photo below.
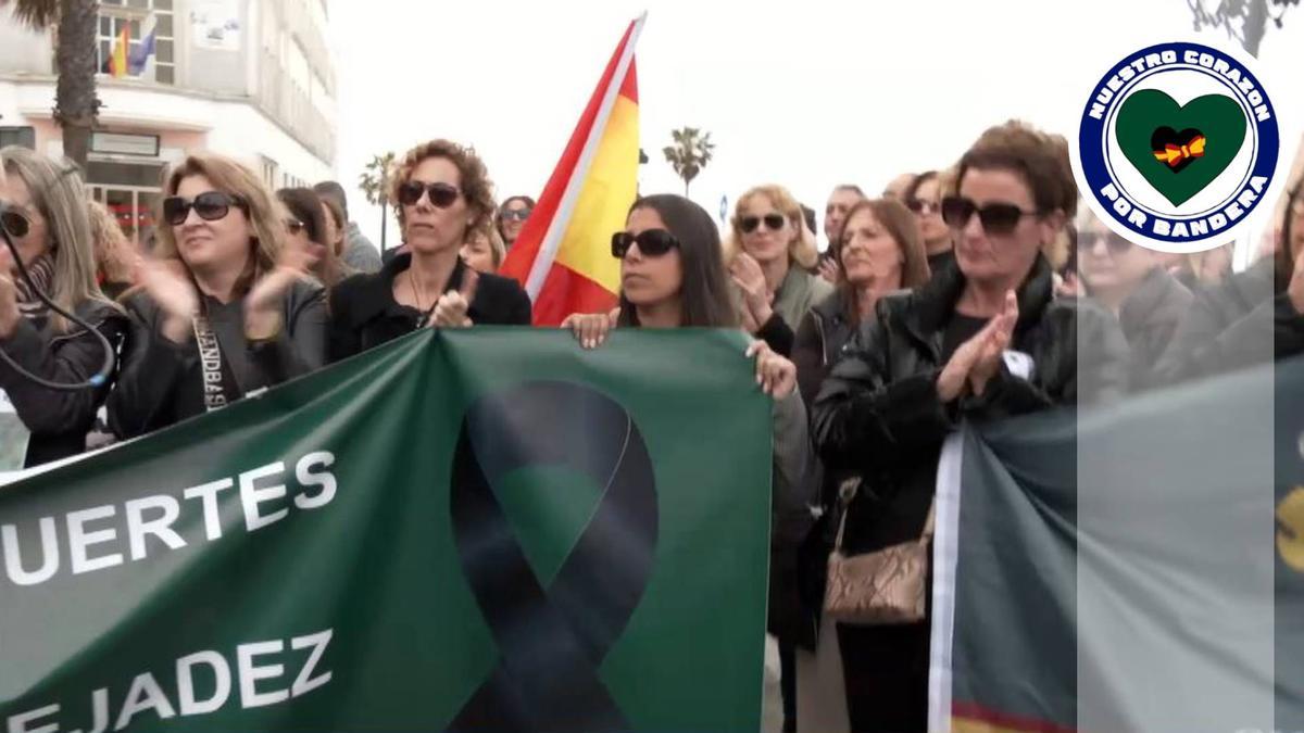
{"type": "MultiPolygon", "coordinates": [[[[237,644],[233,660],[211,650],[185,655],[175,664],[175,690],[159,685],[159,678],[170,680],[162,670],[158,677],[153,672],[137,674],[125,686],[125,694],[121,686],[113,695],[108,687],[100,687],[90,695],[90,728],[85,730],[123,730],[140,715],[166,720],[214,713],[231,700],[233,689],[239,690],[241,710],[297,698],[330,682],[331,672],[325,669],[322,657],[334,633],[327,629],[288,642],[237,644]]],[[[82,723],[86,723],[85,713],[72,713],[64,700],[10,715],[5,729],[8,733],[82,733],[83,728],[65,726],[82,723]]]]}

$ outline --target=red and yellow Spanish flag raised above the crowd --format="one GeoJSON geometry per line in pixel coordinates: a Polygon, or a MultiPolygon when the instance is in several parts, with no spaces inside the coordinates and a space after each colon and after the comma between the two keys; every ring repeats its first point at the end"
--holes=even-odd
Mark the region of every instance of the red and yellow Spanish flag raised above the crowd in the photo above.
{"type": "Polygon", "coordinates": [[[638,194],[639,93],[634,47],[647,13],[630,23],[575,132],[520,231],[502,274],[535,304],[536,326],[615,307],[621,265],[612,233],[638,194]]]}

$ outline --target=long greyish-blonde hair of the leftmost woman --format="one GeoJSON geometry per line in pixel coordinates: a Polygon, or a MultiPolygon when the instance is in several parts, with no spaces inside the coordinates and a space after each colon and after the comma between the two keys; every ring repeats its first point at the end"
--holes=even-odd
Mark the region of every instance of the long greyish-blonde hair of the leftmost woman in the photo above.
{"type": "MultiPolygon", "coordinates": [[[[50,300],[69,313],[87,300],[111,304],[95,282],[95,253],[86,217],[90,196],[77,166],[67,158],[55,160],[20,146],[0,149],[0,162],[5,175],[27,187],[31,205],[46,219],[55,263],[50,300]]],[[[55,310],[50,312],[50,325],[57,333],[68,333],[72,326],[55,310]]]]}

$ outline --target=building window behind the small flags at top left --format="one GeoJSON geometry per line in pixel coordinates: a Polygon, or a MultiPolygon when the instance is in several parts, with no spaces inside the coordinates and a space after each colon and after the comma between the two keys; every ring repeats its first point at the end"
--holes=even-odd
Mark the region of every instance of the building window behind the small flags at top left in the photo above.
{"type": "Polygon", "coordinates": [[[172,0],[100,0],[96,27],[96,64],[108,74],[113,48],[124,30],[128,34],[126,68],[117,76],[176,83],[176,37],[172,0]],[[150,37],[153,35],[153,52],[150,37]]]}

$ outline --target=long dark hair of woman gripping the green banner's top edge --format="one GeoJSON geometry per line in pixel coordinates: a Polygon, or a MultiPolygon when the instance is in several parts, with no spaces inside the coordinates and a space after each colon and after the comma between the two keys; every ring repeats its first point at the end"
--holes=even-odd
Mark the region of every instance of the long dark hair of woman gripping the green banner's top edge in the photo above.
{"type": "MultiPolygon", "coordinates": [[[[630,214],[651,209],[665,222],[666,230],[679,240],[679,262],[683,282],[679,286],[681,326],[733,329],[738,312],[729,299],[720,230],[705,209],[673,193],[644,196],[630,206],[630,214]]],[[[618,326],[638,326],[639,316],[625,293],[621,293],[618,326]]]]}

